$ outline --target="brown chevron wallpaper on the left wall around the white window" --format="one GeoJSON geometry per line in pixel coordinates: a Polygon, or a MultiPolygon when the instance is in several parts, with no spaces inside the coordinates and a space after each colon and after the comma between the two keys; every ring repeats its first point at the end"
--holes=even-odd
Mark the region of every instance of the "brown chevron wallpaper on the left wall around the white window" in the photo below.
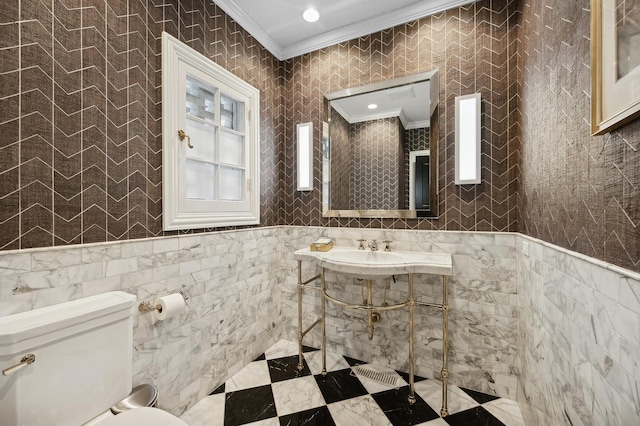
{"type": "Polygon", "coordinates": [[[0,248],[162,235],[167,31],[261,90],[263,225],[278,222],[282,64],[208,0],[0,8],[0,248]]]}

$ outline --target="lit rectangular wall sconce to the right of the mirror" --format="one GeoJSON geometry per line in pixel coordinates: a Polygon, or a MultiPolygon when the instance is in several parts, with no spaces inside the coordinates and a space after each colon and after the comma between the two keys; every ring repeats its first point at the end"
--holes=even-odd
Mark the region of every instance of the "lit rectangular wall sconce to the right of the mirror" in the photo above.
{"type": "Polygon", "coordinates": [[[456,185],[480,183],[480,93],[456,97],[456,185]]]}

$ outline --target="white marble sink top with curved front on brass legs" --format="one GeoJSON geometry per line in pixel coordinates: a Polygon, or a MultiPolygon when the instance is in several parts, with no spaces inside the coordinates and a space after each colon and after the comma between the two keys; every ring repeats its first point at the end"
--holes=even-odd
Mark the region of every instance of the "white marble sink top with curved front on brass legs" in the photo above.
{"type": "Polygon", "coordinates": [[[308,260],[323,268],[361,278],[384,278],[402,274],[451,275],[451,255],[414,251],[371,251],[334,247],[327,252],[297,250],[297,260],[308,260]]]}

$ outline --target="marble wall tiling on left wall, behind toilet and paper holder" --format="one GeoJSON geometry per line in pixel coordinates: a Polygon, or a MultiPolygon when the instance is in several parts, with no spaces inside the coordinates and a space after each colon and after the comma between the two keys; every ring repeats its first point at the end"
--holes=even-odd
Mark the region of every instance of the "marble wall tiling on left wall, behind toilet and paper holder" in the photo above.
{"type": "Polygon", "coordinates": [[[0,252],[0,316],[123,290],[152,301],[182,290],[187,310],[136,312],[133,382],[180,415],[281,335],[280,228],[0,252]]]}

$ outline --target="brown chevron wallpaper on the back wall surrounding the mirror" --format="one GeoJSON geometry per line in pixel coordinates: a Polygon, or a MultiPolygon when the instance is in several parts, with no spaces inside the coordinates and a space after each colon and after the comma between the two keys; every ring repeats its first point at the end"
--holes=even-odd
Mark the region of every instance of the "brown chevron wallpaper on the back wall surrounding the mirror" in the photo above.
{"type": "MultiPolygon", "coordinates": [[[[473,231],[518,230],[516,1],[484,0],[286,62],[286,158],[281,220],[329,225],[473,231]],[[296,123],[321,129],[323,94],[438,69],[440,72],[440,218],[327,219],[320,198],[321,153],[316,144],[315,190],[295,191],[296,123]],[[483,99],[482,183],[454,185],[454,98],[483,99]]],[[[315,138],[320,140],[320,130],[315,138]]]]}

